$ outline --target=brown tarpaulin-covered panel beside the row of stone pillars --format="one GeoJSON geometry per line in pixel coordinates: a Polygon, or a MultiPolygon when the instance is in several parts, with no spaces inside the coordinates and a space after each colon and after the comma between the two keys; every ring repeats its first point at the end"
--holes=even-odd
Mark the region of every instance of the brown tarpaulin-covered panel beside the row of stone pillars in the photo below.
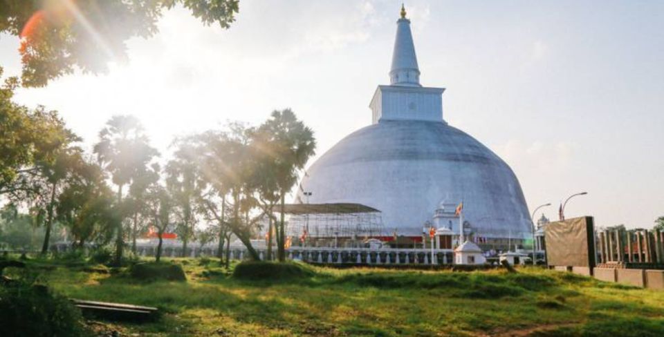
{"type": "Polygon", "coordinates": [[[593,218],[551,222],[544,229],[546,264],[550,266],[595,267],[593,218]]]}

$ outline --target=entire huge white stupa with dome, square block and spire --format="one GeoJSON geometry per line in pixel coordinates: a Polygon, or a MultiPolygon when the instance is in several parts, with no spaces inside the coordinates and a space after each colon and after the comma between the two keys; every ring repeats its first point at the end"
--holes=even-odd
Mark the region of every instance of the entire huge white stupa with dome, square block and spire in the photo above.
{"type": "MultiPolygon", "coordinates": [[[[445,89],[422,86],[420,75],[410,20],[402,9],[390,84],[378,86],[369,104],[372,124],[311,165],[299,193],[311,192],[312,204],[374,207],[382,212],[386,229],[413,238],[422,235],[423,223],[432,220],[441,200],[447,209],[463,201],[464,219],[474,235],[488,242],[530,238],[528,208],[513,171],[489,148],[445,122],[445,89]]],[[[441,216],[440,225],[459,233],[458,221],[441,216]]]]}

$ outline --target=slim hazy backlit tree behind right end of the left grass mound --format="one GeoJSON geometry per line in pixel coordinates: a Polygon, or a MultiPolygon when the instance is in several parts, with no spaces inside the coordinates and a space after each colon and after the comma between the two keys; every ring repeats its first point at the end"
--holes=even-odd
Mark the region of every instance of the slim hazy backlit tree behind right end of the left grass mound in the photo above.
{"type": "Polygon", "coordinates": [[[194,162],[195,145],[191,138],[176,139],[174,158],[166,164],[166,186],[173,195],[178,214],[177,232],[182,240],[182,256],[187,253],[187,242],[196,233],[196,202],[201,198],[204,184],[199,166],[194,162]]]}

